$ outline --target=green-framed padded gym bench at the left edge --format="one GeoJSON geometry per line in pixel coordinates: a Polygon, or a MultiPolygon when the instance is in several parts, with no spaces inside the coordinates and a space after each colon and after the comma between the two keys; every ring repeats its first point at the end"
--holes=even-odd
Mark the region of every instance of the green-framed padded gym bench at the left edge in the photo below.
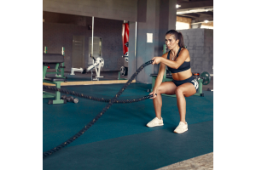
{"type": "MultiPolygon", "coordinates": [[[[61,82],[67,82],[65,77],[46,77],[47,69],[49,65],[61,65],[64,62],[64,56],[62,54],[43,54],[43,82],[55,84],[56,88],[61,88],[61,82]]],[[[55,100],[49,100],[48,104],[64,104],[66,101],[61,99],[61,93],[56,91],[55,94],[43,91],[43,98],[55,98],[55,100]]]]}

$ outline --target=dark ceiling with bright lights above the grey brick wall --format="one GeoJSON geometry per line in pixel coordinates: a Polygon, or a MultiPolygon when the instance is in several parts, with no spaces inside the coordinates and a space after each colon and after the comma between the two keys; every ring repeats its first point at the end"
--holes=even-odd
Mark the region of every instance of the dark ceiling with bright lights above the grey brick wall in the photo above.
{"type": "Polygon", "coordinates": [[[213,0],[177,0],[177,16],[188,17],[193,23],[213,21],[213,0]]]}

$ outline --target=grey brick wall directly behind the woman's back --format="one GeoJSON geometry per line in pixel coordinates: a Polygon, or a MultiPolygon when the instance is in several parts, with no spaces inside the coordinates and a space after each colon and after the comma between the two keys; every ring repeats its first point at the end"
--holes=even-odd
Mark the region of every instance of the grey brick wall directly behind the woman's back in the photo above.
{"type": "Polygon", "coordinates": [[[191,58],[191,71],[207,71],[213,74],[213,30],[211,29],[189,29],[180,30],[183,41],[189,50],[191,58]]]}

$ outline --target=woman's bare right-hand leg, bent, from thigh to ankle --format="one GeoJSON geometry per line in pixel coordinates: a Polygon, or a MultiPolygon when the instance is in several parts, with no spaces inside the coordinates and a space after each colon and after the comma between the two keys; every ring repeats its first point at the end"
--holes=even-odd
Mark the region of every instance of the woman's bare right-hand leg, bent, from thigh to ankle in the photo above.
{"type": "Polygon", "coordinates": [[[175,90],[175,94],[177,96],[177,108],[180,116],[180,122],[186,123],[186,99],[185,97],[189,97],[196,93],[195,87],[192,83],[186,82],[182,85],[178,86],[175,90]]]}

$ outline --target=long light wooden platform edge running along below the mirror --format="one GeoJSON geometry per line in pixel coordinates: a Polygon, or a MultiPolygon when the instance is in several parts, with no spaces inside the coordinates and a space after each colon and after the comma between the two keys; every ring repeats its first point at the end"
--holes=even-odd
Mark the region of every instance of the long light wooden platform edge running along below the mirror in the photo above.
{"type": "MultiPolygon", "coordinates": [[[[61,86],[75,86],[75,85],[93,85],[93,84],[119,84],[126,83],[128,80],[106,80],[106,81],[82,81],[82,82],[61,82],[61,86]]],[[[132,82],[136,82],[133,80],[132,82]]],[[[55,84],[50,84],[43,82],[45,86],[55,86],[55,84]]]]}

